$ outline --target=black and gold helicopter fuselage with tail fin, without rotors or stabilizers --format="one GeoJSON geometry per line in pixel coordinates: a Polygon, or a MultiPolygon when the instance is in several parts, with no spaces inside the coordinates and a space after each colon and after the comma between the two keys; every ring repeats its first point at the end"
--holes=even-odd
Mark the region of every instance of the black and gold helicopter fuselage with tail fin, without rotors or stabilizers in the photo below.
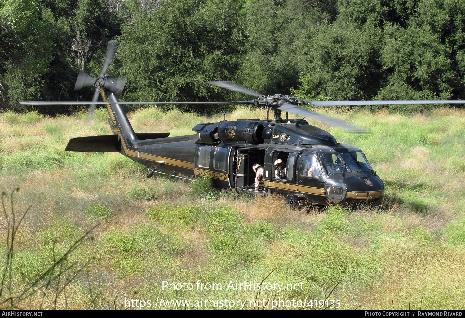
{"type": "Polygon", "coordinates": [[[278,193],[299,204],[367,201],[384,193],[382,180],[359,148],[337,143],[330,133],[305,120],[222,120],[198,124],[195,133],[186,136],[137,134],[115,94],[102,90],[102,97],[108,102],[108,123],[118,135],[114,151],[149,172],[163,170],[188,179],[209,177],[219,188],[278,193]],[[277,159],[286,167],[284,178],[276,175],[277,159]],[[259,191],[253,189],[254,164],[264,168],[259,191]]]}

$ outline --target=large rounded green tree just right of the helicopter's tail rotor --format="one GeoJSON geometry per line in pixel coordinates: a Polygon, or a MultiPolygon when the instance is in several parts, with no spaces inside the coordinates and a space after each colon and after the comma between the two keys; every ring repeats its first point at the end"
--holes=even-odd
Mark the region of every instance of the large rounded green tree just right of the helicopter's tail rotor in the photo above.
{"type": "Polygon", "coordinates": [[[246,53],[241,0],[178,0],[122,27],[116,60],[133,100],[230,98],[208,80],[232,79],[246,53]]]}

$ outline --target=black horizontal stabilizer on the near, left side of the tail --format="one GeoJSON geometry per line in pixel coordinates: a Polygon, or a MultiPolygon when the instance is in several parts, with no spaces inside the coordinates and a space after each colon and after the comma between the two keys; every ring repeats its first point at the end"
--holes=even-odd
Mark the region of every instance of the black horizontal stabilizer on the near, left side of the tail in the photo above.
{"type": "Polygon", "coordinates": [[[117,152],[121,143],[118,135],[102,135],[89,137],[76,137],[69,140],[65,151],[82,152],[117,152]]]}

